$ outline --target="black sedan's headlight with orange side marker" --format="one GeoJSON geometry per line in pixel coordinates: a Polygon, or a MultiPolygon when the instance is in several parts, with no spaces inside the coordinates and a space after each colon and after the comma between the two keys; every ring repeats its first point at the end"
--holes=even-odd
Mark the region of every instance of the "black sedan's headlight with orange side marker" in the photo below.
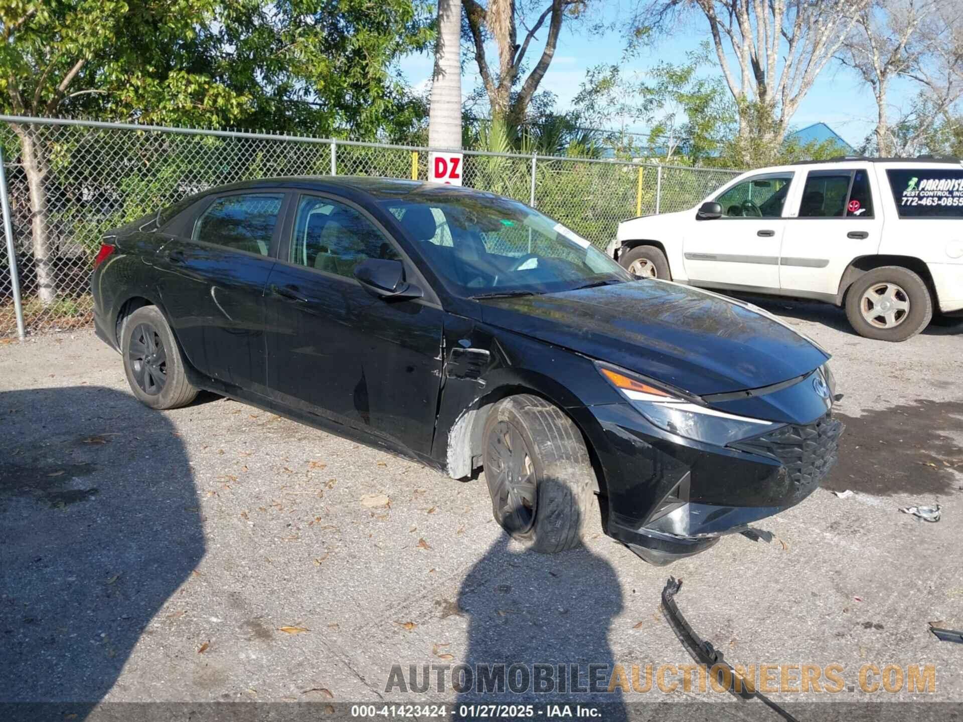
{"type": "Polygon", "coordinates": [[[723,447],[783,425],[727,414],[658,381],[603,364],[596,367],[649,422],[687,439],[723,447]]]}

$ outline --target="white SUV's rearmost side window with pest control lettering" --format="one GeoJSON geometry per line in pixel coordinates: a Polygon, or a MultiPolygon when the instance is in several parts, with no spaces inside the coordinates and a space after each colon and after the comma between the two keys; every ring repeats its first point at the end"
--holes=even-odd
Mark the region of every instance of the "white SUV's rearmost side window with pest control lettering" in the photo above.
{"type": "Polygon", "coordinates": [[[963,168],[891,168],[886,177],[899,218],[963,218],[963,168]]]}

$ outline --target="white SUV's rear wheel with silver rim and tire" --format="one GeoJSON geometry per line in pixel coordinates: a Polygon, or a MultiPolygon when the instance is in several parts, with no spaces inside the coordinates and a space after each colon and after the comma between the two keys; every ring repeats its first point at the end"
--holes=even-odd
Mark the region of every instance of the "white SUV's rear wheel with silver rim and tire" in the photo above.
{"type": "Polygon", "coordinates": [[[933,298],[924,280],[901,266],[861,275],[846,294],[846,318],[860,336],[905,341],[933,317],[933,298]]]}

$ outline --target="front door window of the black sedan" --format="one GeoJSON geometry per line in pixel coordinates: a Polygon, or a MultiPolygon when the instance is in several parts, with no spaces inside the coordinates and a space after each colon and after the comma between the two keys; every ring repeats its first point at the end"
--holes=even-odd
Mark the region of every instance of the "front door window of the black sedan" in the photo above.
{"type": "Polygon", "coordinates": [[[401,260],[401,255],[351,206],[316,195],[300,197],[291,263],[353,278],[354,267],[366,258],[401,260]]]}

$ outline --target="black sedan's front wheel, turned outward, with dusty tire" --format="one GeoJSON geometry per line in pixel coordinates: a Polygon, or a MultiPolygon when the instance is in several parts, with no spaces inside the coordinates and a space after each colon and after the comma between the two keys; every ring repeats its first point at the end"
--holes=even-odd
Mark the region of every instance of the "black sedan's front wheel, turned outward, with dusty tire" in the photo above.
{"type": "Polygon", "coordinates": [[[594,471],[578,427],[528,394],[496,403],[484,426],[484,474],[495,520],[542,554],[579,544],[594,471]]]}

